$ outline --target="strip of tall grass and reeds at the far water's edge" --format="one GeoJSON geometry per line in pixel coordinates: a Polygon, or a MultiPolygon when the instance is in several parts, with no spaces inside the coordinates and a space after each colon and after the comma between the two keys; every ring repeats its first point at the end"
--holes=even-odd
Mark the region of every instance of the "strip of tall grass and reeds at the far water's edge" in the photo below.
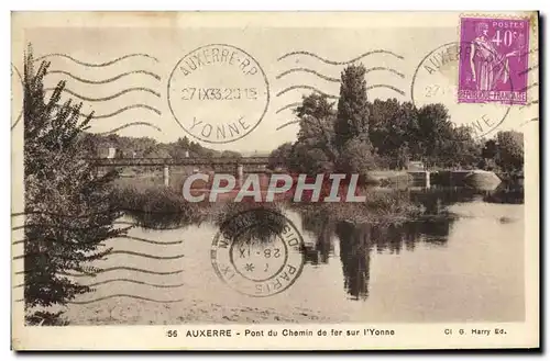
{"type": "Polygon", "coordinates": [[[241,203],[234,203],[230,199],[227,202],[190,203],[173,187],[164,187],[162,177],[142,176],[117,180],[113,202],[140,224],[154,227],[189,224],[207,218],[221,224],[228,217],[248,210],[280,210],[283,203],[300,212],[327,212],[336,221],[353,223],[396,223],[421,215],[424,212],[421,205],[410,201],[407,192],[392,189],[376,190],[369,187],[358,189],[358,194],[366,196],[365,202],[308,202],[306,194],[304,202],[293,202],[290,195],[286,196],[286,201],[275,203],[244,202],[246,199],[241,203]]]}

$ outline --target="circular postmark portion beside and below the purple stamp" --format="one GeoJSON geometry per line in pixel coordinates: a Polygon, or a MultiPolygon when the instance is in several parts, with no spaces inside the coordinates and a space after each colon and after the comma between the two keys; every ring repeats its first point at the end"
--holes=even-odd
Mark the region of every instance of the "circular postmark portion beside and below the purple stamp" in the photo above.
{"type": "MultiPolygon", "coordinates": [[[[472,135],[480,138],[506,120],[512,104],[506,101],[459,102],[460,66],[469,61],[470,48],[468,42],[452,42],[428,53],[415,69],[410,97],[417,108],[433,103],[446,105],[454,125],[468,126],[472,135]]],[[[512,81],[508,86],[513,90],[512,81]]]]}

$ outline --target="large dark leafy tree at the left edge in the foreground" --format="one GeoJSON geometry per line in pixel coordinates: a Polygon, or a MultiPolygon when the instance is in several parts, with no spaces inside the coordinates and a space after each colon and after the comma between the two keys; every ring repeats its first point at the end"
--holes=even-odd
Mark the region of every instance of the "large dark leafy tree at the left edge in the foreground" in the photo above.
{"type": "Polygon", "coordinates": [[[34,71],[32,49],[24,64],[24,301],[28,323],[56,324],[61,313],[33,312],[34,306],[64,305],[90,291],[67,274],[96,274],[90,261],[110,249],[100,244],[125,229],[113,228],[121,213],[110,205],[109,172],[97,176],[81,159],[79,140],[91,114],[81,121],[81,104],[59,104],[65,82],[46,100],[43,79],[50,63],[34,71]]]}

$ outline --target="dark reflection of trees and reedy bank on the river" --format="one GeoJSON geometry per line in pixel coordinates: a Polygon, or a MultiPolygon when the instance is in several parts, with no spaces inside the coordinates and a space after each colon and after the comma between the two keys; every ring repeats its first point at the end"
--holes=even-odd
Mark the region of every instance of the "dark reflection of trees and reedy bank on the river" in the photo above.
{"type": "MultiPolygon", "coordinates": [[[[221,229],[228,239],[239,236],[249,246],[251,240],[264,240],[262,247],[265,248],[270,241],[273,242],[273,236],[285,227],[285,217],[277,214],[294,212],[301,222],[300,232],[309,234],[312,239],[301,247],[306,264],[322,266],[338,260],[333,257],[338,245],[343,286],[348,296],[351,300],[366,300],[373,252],[399,255],[413,252],[418,247],[447,247],[451,228],[457,221],[449,207],[455,203],[476,201],[517,204],[524,200],[522,187],[506,183],[494,191],[432,188],[407,192],[409,200],[421,204],[425,211],[417,218],[399,223],[353,223],[341,219],[330,206],[301,210],[292,204],[279,203],[209,205],[178,222],[188,225],[207,221],[221,229]]],[[[142,214],[133,216],[140,217],[142,214]]],[[[154,223],[158,217],[161,215],[148,215],[146,221],[154,223]]],[[[160,222],[162,225],[167,223],[174,223],[172,215],[160,222]]]]}

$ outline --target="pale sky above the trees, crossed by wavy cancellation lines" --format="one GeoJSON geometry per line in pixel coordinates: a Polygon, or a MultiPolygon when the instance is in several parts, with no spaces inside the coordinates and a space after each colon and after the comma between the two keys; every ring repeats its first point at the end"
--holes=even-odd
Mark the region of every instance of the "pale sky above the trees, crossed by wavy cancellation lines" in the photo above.
{"type": "MultiPolygon", "coordinates": [[[[448,106],[451,121],[477,124],[487,135],[498,129],[522,131],[524,124],[537,116],[537,104],[459,104],[458,61],[443,64],[435,74],[426,71],[431,57],[437,60],[441,50],[452,46],[446,44],[459,42],[460,15],[24,13],[13,18],[12,65],[21,72],[24,44],[32,43],[35,58],[46,56],[51,61],[46,88],[66,80],[70,93],[64,93],[64,99],[82,98],[82,113],[95,112],[94,133],[122,127],[116,133],[160,142],[188,136],[219,150],[265,153],[295,140],[298,125],[288,124],[296,120],[292,104],[311,91],[337,101],[340,72],[346,65],[359,63],[370,69],[370,100],[411,101],[414,97],[417,105],[441,102],[448,106]],[[234,50],[238,61],[229,65],[227,58],[219,64],[212,60],[187,76],[180,65],[199,54],[197,48],[207,48],[210,56],[215,48],[227,54],[234,50]],[[244,74],[240,67],[244,59],[250,63],[248,69],[257,71],[244,74]],[[212,94],[186,101],[178,95],[191,88],[218,88],[230,99],[217,100],[212,94]],[[251,99],[234,99],[235,89],[242,94],[254,93],[251,99]],[[224,126],[222,131],[230,132],[230,124],[241,126],[242,136],[217,140],[216,129],[224,126]],[[212,129],[211,136],[205,136],[212,129]]],[[[530,48],[536,47],[532,36],[530,48]]],[[[534,55],[529,66],[537,61],[534,55]]],[[[529,83],[537,81],[538,70],[531,71],[529,83]]],[[[12,89],[13,123],[22,102],[13,75],[12,89]]],[[[537,91],[528,92],[528,101],[538,99],[537,91]]]]}

